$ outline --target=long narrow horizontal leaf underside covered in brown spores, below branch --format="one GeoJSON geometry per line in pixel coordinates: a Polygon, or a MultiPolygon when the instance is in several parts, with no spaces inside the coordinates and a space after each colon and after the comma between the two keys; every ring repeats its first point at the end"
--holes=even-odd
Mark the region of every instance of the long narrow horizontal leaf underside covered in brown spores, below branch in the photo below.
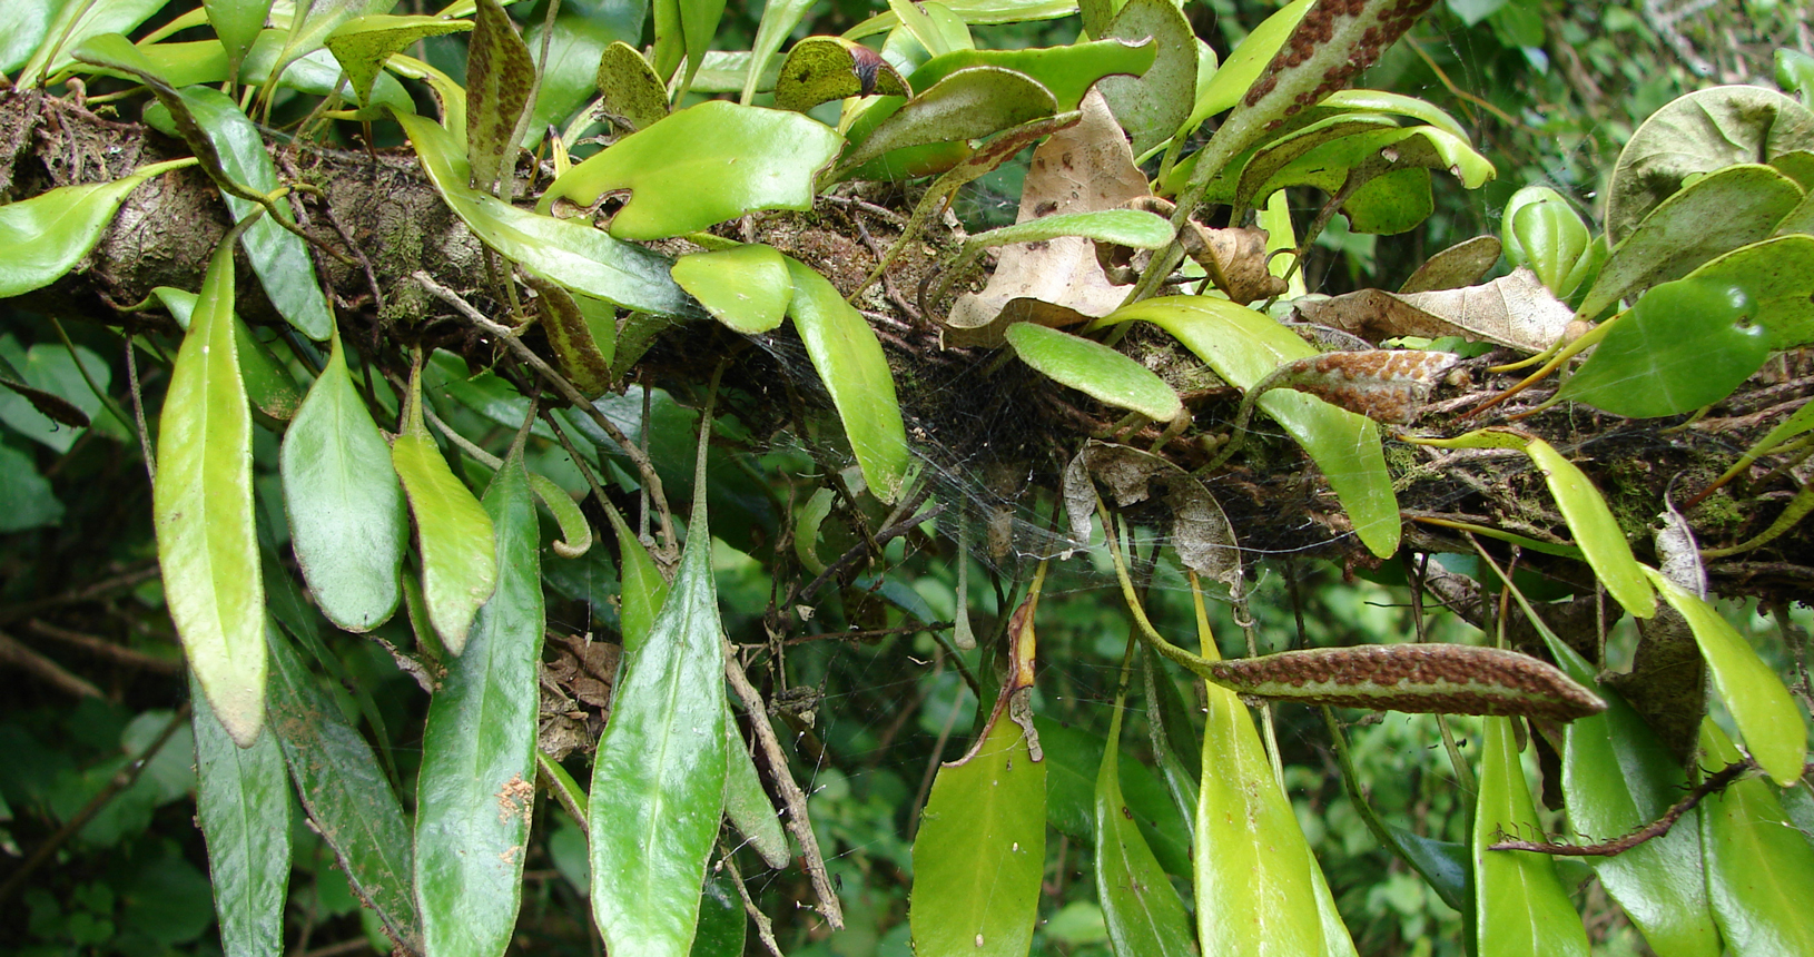
{"type": "Polygon", "coordinates": [[[1440,714],[1518,714],[1573,721],[1605,701],[1555,665],[1475,645],[1359,645],[1212,662],[1241,694],[1312,705],[1440,714]]]}

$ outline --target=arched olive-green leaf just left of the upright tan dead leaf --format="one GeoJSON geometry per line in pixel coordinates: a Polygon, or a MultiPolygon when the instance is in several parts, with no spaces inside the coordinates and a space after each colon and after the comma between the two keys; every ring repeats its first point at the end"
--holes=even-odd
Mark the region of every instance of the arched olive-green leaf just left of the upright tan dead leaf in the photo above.
{"type": "Polygon", "coordinates": [[[1030,123],[1058,112],[1052,94],[1027,74],[1001,67],[969,67],[925,87],[898,109],[885,103],[871,107],[851,125],[856,143],[838,161],[834,179],[842,179],[863,163],[896,150],[932,147],[936,143],[963,145],[1005,129],[1030,123]],[[874,127],[869,127],[876,118],[874,127]]]}

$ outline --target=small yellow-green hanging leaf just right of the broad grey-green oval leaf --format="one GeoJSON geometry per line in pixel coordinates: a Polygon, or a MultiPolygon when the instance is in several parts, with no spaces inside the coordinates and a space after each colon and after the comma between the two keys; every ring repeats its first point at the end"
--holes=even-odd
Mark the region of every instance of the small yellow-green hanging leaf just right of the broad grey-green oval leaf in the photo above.
{"type": "Polygon", "coordinates": [[[423,424],[423,370],[410,370],[410,393],[403,404],[390,464],[403,478],[415,517],[415,547],[423,558],[423,600],[428,620],[448,652],[459,656],[479,605],[497,587],[492,553],[492,518],[441,457],[423,424]]]}

